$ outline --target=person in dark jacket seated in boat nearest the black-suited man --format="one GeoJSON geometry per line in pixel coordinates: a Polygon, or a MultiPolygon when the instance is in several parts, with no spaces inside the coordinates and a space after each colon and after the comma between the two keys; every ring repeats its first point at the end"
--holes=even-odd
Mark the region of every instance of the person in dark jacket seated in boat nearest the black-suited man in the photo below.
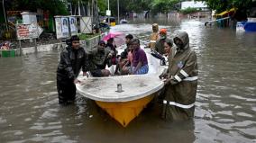
{"type": "Polygon", "coordinates": [[[101,77],[109,76],[110,71],[105,69],[105,66],[110,67],[112,65],[111,58],[113,57],[111,51],[105,48],[105,41],[100,40],[96,49],[88,54],[90,61],[90,73],[92,76],[101,77]]]}

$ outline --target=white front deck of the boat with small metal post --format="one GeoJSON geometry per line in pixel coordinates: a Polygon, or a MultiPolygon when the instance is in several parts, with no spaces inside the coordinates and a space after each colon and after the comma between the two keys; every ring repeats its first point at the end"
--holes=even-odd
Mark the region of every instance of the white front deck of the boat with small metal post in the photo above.
{"type": "Polygon", "coordinates": [[[101,102],[128,102],[159,91],[163,82],[159,75],[131,75],[82,77],[77,85],[80,94],[101,102]],[[122,84],[123,92],[117,92],[117,84],[122,84]]]}

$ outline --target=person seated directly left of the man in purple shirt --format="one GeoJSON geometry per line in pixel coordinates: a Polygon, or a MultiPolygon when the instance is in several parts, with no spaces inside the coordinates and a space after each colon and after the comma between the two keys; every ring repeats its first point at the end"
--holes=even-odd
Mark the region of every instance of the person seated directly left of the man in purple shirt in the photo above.
{"type": "Polygon", "coordinates": [[[128,52],[130,50],[129,47],[131,45],[131,40],[133,40],[133,35],[132,34],[128,34],[128,35],[125,36],[126,49],[124,49],[124,51],[120,54],[120,56],[118,58],[119,62],[118,62],[118,65],[115,68],[115,72],[114,72],[115,75],[123,75],[122,68],[123,68],[124,65],[128,65],[126,63],[128,62],[127,56],[128,56],[128,52]]]}

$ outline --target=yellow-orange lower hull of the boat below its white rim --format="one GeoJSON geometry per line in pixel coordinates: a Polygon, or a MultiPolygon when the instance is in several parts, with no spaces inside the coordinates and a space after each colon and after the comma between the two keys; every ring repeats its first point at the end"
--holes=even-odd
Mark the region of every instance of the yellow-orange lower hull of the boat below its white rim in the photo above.
{"type": "Polygon", "coordinates": [[[96,104],[114,118],[115,121],[118,121],[123,127],[126,127],[129,122],[133,121],[146,105],[151,102],[154,95],[155,94],[151,94],[129,102],[108,103],[96,101],[96,104]]]}

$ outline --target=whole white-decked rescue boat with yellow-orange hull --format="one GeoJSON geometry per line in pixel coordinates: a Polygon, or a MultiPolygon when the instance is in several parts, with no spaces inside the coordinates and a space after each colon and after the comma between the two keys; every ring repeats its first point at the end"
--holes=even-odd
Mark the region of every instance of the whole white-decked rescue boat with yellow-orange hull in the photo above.
{"type": "MultiPolygon", "coordinates": [[[[78,76],[81,81],[76,85],[78,93],[96,101],[115,121],[126,127],[164,86],[159,76],[167,66],[160,66],[160,59],[151,55],[151,49],[145,49],[145,52],[149,61],[148,74],[88,78],[78,76]]],[[[112,67],[109,70],[114,74],[112,67]]]]}

